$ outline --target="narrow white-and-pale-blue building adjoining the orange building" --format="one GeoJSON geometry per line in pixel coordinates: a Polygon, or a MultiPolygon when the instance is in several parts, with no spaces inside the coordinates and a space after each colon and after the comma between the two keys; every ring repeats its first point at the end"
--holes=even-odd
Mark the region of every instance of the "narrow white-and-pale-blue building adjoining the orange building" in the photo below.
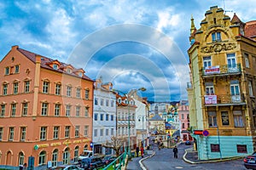
{"type": "Polygon", "coordinates": [[[116,96],[112,88],[112,83],[103,83],[102,78],[95,82],[92,139],[97,154],[114,154],[112,149],[102,147],[116,136],[116,96]]]}

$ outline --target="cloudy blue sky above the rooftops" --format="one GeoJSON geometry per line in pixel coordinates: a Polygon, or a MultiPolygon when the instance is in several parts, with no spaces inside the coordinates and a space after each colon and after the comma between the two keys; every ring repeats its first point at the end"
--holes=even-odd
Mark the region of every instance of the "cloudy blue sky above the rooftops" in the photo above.
{"type": "Polygon", "coordinates": [[[212,6],[256,20],[255,0],[0,1],[0,59],[18,45],[124,94],[143,87],[150,101],[188,99],[191,15],[199,29],[212,6]]]}

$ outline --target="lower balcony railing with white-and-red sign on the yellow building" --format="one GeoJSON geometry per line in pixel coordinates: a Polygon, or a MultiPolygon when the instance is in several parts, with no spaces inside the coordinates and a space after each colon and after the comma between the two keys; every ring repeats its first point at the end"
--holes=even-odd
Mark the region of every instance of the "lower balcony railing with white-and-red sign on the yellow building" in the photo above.
{"type": "Polygon", "coordinates": [[[205,105],[241,104],[244,103],[244,95],[205,95],[205,105]]]}

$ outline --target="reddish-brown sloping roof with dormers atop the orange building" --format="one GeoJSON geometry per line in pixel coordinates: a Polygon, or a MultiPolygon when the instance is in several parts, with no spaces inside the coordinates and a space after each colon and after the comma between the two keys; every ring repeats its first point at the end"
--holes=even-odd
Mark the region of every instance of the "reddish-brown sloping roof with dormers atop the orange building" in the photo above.
{"type": "Polygon", "coordinates": [[[87,77],[87,76],[84,75],[84,70],[81,69],[81,68],[75,69],[75,68],[73,67],[73,65],[60,62],[60,61],[58,61],[57,59],[50,59],[50,58],[48,58],[48,57],[44,57],[44,56],[42,56],[42,55],[40,55],[40,54],[32,53],[32,52],[30,52],[30,51],[27,51],[27,50],[22,49],[22,48],[19,48],[19,47],[17,48],[17,50],[18,50],[21,54],[23,54],[24,56],[26,56],[27,59],[32,60],[33,63],[36,63],[36,56],[37,56],[37,55],[41,56],[41,67],[42,67],[42,68],[45,68],[45,69],[48,69],[48,70],[52,70],[52,71],[58,71],[58,72],[61,72],[61,73],[65,73],[65,74],[67,74],[67,75],[74,76],[74,77],[79,77],[79,75],[75,74],[75,72],[81,71],[81,72],[83,73],[83,76],[82,76],[81,78],[83,78],[83,79],[85,79],[85,80],[89,80],[89,81],[91,81],[91,82],[94,82],[93,80],[90,79],[90,77],[87,77]],[[52,63],[52,62],[57,62],[57,63],[59,63],[59,64],[60,64],[60,65],[59,65],[59,68],[56,69],[56,70],[53,69],[53,68],[49,65],[49,63],[52,63]],[[72,67],[72,68],[73,68],[73,71],[70,72],[70,73],[68,73],[67,71],[65,71],[64,68],[67,68],[67,66],[72,67]]]}

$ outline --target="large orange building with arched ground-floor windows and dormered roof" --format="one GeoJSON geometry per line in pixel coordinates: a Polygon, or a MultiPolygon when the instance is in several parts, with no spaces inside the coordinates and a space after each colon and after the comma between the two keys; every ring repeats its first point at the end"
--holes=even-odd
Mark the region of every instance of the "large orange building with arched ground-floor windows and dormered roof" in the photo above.
{"type": "Polygon", "coordinates": [[[83,69],[18,46],[0,68],[0,168],[46,169],[90,150],[94,81],[83,69]]]}

